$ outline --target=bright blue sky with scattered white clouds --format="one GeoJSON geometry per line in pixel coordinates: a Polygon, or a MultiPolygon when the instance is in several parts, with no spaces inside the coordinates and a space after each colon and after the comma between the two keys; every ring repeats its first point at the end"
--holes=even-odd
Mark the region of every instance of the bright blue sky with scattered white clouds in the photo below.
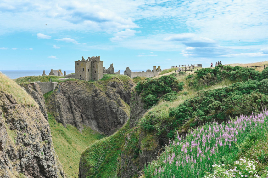
{"type": "Polygon", "coordinates": [[[259,62],[267,31],[263,0],[1,0],[0,70],[259,62]]]}

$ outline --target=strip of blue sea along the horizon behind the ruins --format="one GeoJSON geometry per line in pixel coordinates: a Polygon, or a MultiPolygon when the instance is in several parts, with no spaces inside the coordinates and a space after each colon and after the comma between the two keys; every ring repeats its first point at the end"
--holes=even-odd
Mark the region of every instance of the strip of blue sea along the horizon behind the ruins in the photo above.
{"type": "MultiPolygon", "coordinates": [[[[43,70],[0,70],[3,74],[7,75],[9,78],[11,79],[15,79],[15,78],[19,78],[19,77],[25,77],[25,76],[32,76],[32,75],[42,75],[43,74],[43,70]]],[[[50,73],[50,69],[49,70],[45,70],[46,71],[46,75],[48,75],[50,73]]],[[[62,73],[64,73],[64,71],[66,71],[66,74],[70,74],[70,73],[75,73],[75,70],[72,69],[66,69],[66,70],[61,70],[62,73]]],[[[118,69],[114,70],[114,72],[117,72],[118,69]]],[[[124,74],[125,69],[120,69],[120,74],[124,74]]],[[[131,70],[132,72],[138,72],[138,71],[146,71],[146,69],[136,69],[136,70],[131,70]]]]}

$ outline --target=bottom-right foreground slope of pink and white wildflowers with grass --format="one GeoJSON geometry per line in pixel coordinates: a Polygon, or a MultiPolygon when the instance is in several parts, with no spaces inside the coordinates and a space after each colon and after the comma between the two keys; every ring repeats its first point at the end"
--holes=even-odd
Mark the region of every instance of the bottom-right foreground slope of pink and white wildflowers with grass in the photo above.
{"type": "Polygon", "coordinates": [[[177,133],[158,160],[144,169],[144,177],[266,177],[268,148],[256,146],[267,140],[267,118],[265,109],[228,123],[207,123],[186,137],[177,133]]]}

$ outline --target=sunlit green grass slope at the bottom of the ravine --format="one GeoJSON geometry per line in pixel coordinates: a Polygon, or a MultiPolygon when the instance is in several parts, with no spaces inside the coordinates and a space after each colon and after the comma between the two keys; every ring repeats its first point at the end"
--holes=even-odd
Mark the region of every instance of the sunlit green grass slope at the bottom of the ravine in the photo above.
{"type": "Polygon", "coordinates": [[[81,153],[95,141],[105,137],[90,127],[84,127],[82,132],[72,125],[65,128],[57,123],[55,118],[48,113],[49,125],[55,152],[61,162],[67,177],[77,178],[81,153]]]}

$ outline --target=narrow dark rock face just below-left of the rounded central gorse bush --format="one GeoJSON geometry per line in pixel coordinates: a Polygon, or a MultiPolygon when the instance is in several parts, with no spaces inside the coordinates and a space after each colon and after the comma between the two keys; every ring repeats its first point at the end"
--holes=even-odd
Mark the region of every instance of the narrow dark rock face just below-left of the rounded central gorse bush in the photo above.
{"type": "Polygon", "coordinates": [[[146,113],[143,108],[143,101],[141,94],[137,94],[134,90],[132,93],[131,103],[130,103],[130,116],[129,116],[129,127],[133,128],[137,126],[139,120],[146,113]]]}

